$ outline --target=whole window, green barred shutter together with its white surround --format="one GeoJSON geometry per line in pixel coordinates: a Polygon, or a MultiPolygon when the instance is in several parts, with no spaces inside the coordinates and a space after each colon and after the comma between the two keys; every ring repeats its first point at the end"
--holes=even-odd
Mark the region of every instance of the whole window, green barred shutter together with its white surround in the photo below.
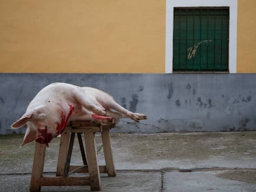
{"type": "Polygon", "coordinates": [[[236,36],[237,0],[166,0],[165,72],[236,73],[236,36]]]}

